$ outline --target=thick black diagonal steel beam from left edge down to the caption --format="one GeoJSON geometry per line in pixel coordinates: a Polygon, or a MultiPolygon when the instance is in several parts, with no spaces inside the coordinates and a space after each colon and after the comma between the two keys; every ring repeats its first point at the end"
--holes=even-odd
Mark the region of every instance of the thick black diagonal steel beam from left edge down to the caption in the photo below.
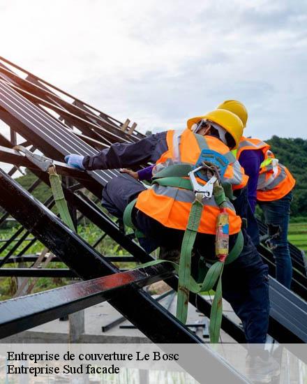
{"type": "MultiPolygon", "coordinates": [[[[27,191],[24,191],[15,180],[8,177],[2,170],[0,170],[0,205],[7,212],[10,212],[17,221],[20,221],[24,227],[31,230],[40,242],[43,242],[50,251],[61,258],[70,269],[73,269],[83,279],[95,279],[101,275],[118,272],[117,268],[110,265],[103,256],[69,230],[57,216],[48,211],[27,191]],[[11,198],[12,196],[14,199],[11,198]]],[[[153,268],[156,269],[156,267],[153,268]]],[[[160,267],[165,273],[164,277],[169,276],[170,270],[160,267]]],[[[158,269],[156,270],[158,271],[158,269]]],[[[109,302],[155,343],[202,344],[200,338],[190,332],[155,300],[152,300],[147,293],[140,291],[133,283],[126,287],[117,288],[117,295],[112,296],[109,302]]],[[[17,316],[20,316],[20,313],[17,313],[17,316]]],[[[43,320],[41,316],[39,317],[39,321],[43,320]]],[[[43,323],[45,321],[47,320],[43,320],[43,323]]],[[[28,322],[26,321],[26,323],[28,322]]],[[[29,324],[27,326],[29,327],[29,324]]],[[[20,332],[20,329],[21,327],[18,326],[15,332],[20,332]]],[[[246,382],[245,378],[237,374],[237,371],[234,371],[225,360],[221,360],[204,344],[202,344],[195,359],[199,360],[199,364],[206,361],[216,367],[217,380],[222,380],[222,377],[226,376],[228,383],[246,382]]],[[[183,362],[182,366],[193,375],[193,369],[191,369],[189,362],[183,362]]]]}

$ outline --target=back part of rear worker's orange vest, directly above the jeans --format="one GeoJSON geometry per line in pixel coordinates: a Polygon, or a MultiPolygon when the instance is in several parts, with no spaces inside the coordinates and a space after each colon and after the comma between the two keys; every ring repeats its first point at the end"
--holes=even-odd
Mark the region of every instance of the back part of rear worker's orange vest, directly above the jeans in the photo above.
{"type": "Polygon", "coordinates": [[[264,154],[257,185],[257,200],[274,201],[292,191],[295,179],[285,165],[280,164],[273,152],[264,154]]]}

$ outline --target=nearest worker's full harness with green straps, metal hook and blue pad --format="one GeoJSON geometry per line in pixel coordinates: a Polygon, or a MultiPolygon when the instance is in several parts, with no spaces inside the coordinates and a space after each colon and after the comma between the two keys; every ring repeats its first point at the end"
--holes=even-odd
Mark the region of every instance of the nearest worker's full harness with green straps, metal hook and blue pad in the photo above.
{"type": "MultiPolygon", "coordinates": [[[[153,184],[160,186],[173,186],[180,189],[194,191],[195,200],[191,206],[188,217],[188,225],[184,232],[184,239],[181,245],[181,256],[179,265],[170,260],[155,260],[145,265],[155,265],[158,263],[171,263],[179,276],[178,296],[177,296],[177,318],[186,323],[188,314],[188,298],[190,291],[193,293],[207,292],[216,286],[216,293],[212,302],[209,334],[211,343],[217,343],[220,335],[220,324],[222,321],[222,274],[225,264],[232,263],[241,253],[244,245],[242,232],[237,235],[237,240],[229,252],[229,216],[227,213],[227,198],[233,198],[230,184],[221,184],[221,179],[228,165],[225,156],[218,152],[202,150],[196,165],[177,164],[170,165],[156,173],[153,184]],[[206,184],[197,182],[200,178],[206,184]],[[226,192],[226,193],[225,193],[226,192]],[[201,281],[195,281],[191,276],[191,259],[193,246],[200,226],[202,210],[207,199],[214,195],[216,204],[220,207],[216,223],[216,260],[207,270],[205,261],[200,260],[198,276],[202,276],[201,281]],[[227,195],[227,197],[226,197],[227,195]],[[217,285],[216,285],[217,283],[217,285]]],[[[135,229],[132,221],[133,207],[137,199],[130,202],[123,214],[123,222],[126,226],[135,229]]],[[[139,231],[140,232],[140,231],[139,231]]],[[[137,236],[137,233],[136,233],[137,236]]],[[[144,267],[144,265],[142,265],[144,267]]]]}

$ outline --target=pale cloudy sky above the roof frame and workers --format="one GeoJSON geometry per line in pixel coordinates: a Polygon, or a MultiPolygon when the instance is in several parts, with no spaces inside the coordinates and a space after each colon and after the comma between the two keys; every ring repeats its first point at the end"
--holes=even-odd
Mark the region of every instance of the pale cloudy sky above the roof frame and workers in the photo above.
{"type": "Polygon", "coordinates": [[[1,0],[0,54],[140,131],[225,99],[246,136],[307,138],[306,0],[1,0]]]}

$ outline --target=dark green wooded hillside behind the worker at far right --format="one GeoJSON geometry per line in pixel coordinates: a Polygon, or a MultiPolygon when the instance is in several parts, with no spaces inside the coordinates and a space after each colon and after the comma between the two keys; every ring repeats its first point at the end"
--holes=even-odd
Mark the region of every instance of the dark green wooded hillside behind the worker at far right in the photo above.
{"type": "Polygon", "coordinates": [[[285,165],[297,180],[291,205],[291,216],[307,218],[307,140],[273,136],[271,145],[276,158],[285,165]]]}

